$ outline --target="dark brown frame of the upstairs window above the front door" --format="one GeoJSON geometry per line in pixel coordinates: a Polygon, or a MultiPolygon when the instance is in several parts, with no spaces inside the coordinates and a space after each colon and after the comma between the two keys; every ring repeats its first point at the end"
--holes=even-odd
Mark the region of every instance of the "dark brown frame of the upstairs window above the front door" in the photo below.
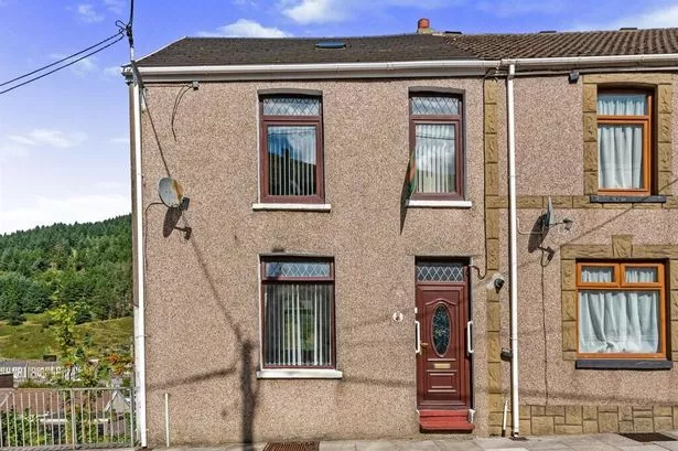
{"type": "MultiPolygon", "coordinates": [[[[440,93],[440,92],[411,92],[408,98],[409,112],[409,147],[410,154],[417,147],[417,125],[452,125],[454,127],[454,164],[455,180],[453,193],[419,193],[415,191],[411,200],[422,201],[463,201],[464,200],[464,96],[462,94],[440,93]],[[459,114],[456,115],[415,115],[412,114],[412,99],[417,97],[450,97],[459,103],[459,114]]],[[[416,158],[415,164],[416,163],[416,158]]],[[[416,173],[416,172],[415,172],[416,173]]]]}

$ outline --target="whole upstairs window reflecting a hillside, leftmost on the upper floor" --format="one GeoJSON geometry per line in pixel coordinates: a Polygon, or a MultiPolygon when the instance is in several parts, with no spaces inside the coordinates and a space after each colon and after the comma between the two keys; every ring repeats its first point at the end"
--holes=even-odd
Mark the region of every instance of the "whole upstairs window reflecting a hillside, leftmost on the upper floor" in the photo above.
{"type": "Polygon", "coordinates": [[[260,115],[261,202],[323,203],[320,97],[262,97],[260,115]]]}

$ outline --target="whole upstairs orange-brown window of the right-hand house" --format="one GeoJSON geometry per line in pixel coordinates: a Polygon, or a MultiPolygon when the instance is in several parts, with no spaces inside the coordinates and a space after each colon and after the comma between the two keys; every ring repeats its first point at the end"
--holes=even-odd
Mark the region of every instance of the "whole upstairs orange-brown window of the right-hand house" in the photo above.
{"type": "Polygon", "coordinates": [[[652,99],[646,93],[599,93],[598,161],[602,194],[650,194],[652,99]]]}

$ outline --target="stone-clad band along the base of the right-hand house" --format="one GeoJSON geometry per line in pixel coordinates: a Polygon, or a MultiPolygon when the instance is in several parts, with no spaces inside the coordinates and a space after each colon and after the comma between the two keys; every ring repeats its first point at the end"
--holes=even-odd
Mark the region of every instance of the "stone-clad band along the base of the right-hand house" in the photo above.
{"type": "Polygon", "coordinates": [[[520,406],[520,433],[659,432],[678,429],[678,406],[520,406]]]}

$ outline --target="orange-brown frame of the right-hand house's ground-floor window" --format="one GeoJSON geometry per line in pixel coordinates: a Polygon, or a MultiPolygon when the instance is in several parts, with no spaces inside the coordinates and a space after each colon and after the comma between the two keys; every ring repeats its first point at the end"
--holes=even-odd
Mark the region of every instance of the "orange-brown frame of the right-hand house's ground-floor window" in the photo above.
{"type": "Polygon", "coordinates": [[[578,261],[577,262],[577,356],[580,359],[667,359],[667,308],[666,308],[666,265],[664,261],[634,261],[634,260],[607,260],[607,261],[578,261]],[[612,268],[612,282],[582,282],[583,267],[612,268]],[[656,282],[626,282],[626,267],[655,268],[657,271],[656,282]],[[659,320],[658,320],[658,353],[581,353],[580,352],[580,292],[581,291],[658,291],[659,293],[659,320]]]}

